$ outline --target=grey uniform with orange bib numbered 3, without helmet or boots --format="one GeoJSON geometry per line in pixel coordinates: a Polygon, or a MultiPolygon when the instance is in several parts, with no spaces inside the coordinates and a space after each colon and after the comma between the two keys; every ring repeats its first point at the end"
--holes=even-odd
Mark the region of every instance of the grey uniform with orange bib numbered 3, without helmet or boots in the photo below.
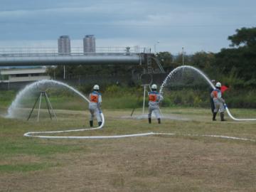
{"type": "Polygon", "coordinates": [[[149,92],[149,118],[151,118],[152,112],[156,115],[157,119],[160,119],[160,109],[159,102],[163,100],[164,97],[156,91],[149,92]]]}

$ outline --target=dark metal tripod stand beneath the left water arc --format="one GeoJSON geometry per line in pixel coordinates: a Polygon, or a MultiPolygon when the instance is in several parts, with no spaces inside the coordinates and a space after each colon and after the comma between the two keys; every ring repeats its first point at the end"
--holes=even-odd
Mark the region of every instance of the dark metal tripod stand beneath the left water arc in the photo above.
{"type": "Polygon", "coordinates": [[[41,92],[40,92],[40,95],[38,95],[38,97],[37,97],[37,99],[36,99],[36,102],[35,102],[34,105],[33,105],[33,108],[32,108],[32,110],[31,110],[31,112],[30,112],[30,114],[29,114],[27,120],[29,120],[29,119],[31,118],[31,114],[32,114],[33,110],[34,110],[35,107],[36,107],[36,103],[37,103],[38,100],[39,100],[38,117],[37,117],[37,120],[39,121],[39,115],[40,115],[40,110],[41,110],[42,97],[45,97],[45,99],[46,99],[46,105],[47,105],[47,108],[48,108],[48,112],[49,112],[49,115],[50,115],[50,119],[53,119],[53,117],[55,117],[55,119],[57,119],[56,114],[55,114],[55,112],[54,112],[54,110],[53,110],[53,107],[52,107],[52,105],[50,104],[50,100],[49,100],[49,98],[48,98],[48,95],[47,95],[46,91],[41,91],[41,92]],[[51,114],[50,111],[53,112],[53,115],[51,114]]]}

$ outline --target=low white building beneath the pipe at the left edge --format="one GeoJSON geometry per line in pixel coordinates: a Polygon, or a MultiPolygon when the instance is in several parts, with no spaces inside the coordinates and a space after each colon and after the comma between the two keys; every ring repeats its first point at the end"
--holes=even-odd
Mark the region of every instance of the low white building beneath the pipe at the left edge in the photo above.
{"type": "Polygon", "coordinates": [[[46,68],[11,68],[0,70],[1,88],[19,88],[37,80],[50,80],[50,76],[46,73],[46,68]]]}

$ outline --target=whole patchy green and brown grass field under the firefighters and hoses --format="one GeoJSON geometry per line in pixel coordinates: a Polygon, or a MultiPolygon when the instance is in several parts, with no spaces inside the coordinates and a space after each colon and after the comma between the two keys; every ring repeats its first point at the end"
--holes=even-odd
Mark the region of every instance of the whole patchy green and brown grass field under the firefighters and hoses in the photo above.
{"type": "MultiPolygon", "coordinates": [[[[6,108],[0,108],[4,114],[6,108]]],[[[134,115],[141,114],[141,109],[134,115]]],[[[232,110],[256,117],[255,110],[232,110]]],[[[256,139],[256,122],[211,121],[210,110],[163,109],[162,124],[129,119],[131,110],[104,110],[105,127],[61,135],[143,132],[215,134],[256,139]]],[[[0,191],[256,191],[256,143],[213,137],[36,139],[28,131],[88,127],[87,111],[57,110],[39,122],[0,117],[0,191]]],[[[57,135],[57,134],[55,134],[57,135]]],[[[58,134],[60,135],[60,134],[58,134]]]]}

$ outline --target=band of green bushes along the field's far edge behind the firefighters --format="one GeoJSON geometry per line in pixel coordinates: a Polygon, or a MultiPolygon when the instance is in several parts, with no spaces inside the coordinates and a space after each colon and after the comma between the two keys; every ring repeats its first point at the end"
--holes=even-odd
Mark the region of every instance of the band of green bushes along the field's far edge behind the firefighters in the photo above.
{"type": "MultiPolygon", "coordinates": [[[[91,85],[78,87],[83,93],[92,91],[91,85]]],[[[102,108],[134,108],[142,107],[143,105],[143,87],[120,87],[118,85],[101,85],[100,92],[102,92],[102,108]]],[[[14,91],[0,91],[0,101],[2,107],[7,107],[11,104],[16,92],[14,91]]],[[[63,102],[67,102],[67,105],[73,105],[74,109],[80,109],[80,102],[75,100],[76,95],[73,92],[60,89],[60,90],[48,90],[48,96],[50,101],[55,105],[62,105],[63,102]],[[77,107],[75,107],[78,105],[77,107]]],[[[228,107],[233,108],[256,108],[256,90],[247,89],[231,89],[227,90],[223,94],[223,98],[228,107]]],[[[147,106],[146,96],[146,106],[147,106]]],[[[210,107],[210,93],[206,87],[193,87],[193,88],[178,88],[171,91],[164,91],[164,100],[161,102],[161,107],[210,107]]]]}

